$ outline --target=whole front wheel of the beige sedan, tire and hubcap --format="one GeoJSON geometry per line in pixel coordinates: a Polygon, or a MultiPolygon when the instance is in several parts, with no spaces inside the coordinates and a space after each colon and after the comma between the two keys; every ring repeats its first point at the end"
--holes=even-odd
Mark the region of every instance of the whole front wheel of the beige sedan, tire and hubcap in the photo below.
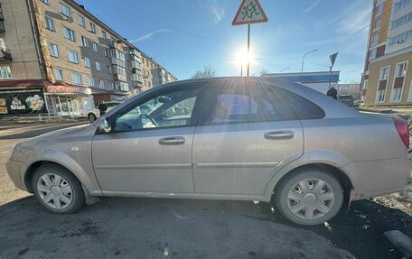
{"type": "Polygon", "coordinates": [[[85,203],[80,180],[58,164],[43,164],[34,171],[32,189],[42,207],[54,213],[74,213],[85,203]]]}

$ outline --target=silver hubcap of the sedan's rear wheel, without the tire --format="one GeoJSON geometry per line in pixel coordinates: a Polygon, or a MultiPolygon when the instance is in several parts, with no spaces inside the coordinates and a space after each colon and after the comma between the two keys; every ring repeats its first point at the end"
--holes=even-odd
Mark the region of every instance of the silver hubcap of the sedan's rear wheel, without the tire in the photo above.
{"type": "Polygon", "coordinates": [[[287,206],[292,214],[308,220],[328,214],[334,201],[331,185],[321,179],[301,180],[287,193],[287,206]]]}

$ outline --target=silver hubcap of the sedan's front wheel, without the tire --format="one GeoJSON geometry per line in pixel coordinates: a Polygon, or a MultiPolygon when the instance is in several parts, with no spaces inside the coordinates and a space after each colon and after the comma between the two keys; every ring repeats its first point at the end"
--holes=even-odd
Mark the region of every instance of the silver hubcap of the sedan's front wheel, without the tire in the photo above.
{"type": "Polygon", "coordinates": [[[73,200],[69,182],[56,173],[45,173],[37,180],[37,193],[52,208],[67,208],[73,200]]]}

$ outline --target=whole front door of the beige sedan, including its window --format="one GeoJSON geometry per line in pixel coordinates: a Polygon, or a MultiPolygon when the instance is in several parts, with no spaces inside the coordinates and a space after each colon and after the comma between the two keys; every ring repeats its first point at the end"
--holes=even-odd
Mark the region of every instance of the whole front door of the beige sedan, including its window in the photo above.
{"type": "Polygon", "coordinates": [[[93,165],[104,193],[194,192],[192,139],[199,89],[164,88],[110,116],[112,130],[96,134],[93,165]],[[184,111],[176,107],[184,107],[184,111]]]}

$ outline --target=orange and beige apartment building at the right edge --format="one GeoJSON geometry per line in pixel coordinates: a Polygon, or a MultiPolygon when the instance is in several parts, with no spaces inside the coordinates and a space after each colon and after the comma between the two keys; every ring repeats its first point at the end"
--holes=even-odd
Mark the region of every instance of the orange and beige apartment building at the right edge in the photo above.
{"type": "Polygon", "coordinates": [[[374,0],[363,106],[412,105],[412,0],[374,0]]]}

